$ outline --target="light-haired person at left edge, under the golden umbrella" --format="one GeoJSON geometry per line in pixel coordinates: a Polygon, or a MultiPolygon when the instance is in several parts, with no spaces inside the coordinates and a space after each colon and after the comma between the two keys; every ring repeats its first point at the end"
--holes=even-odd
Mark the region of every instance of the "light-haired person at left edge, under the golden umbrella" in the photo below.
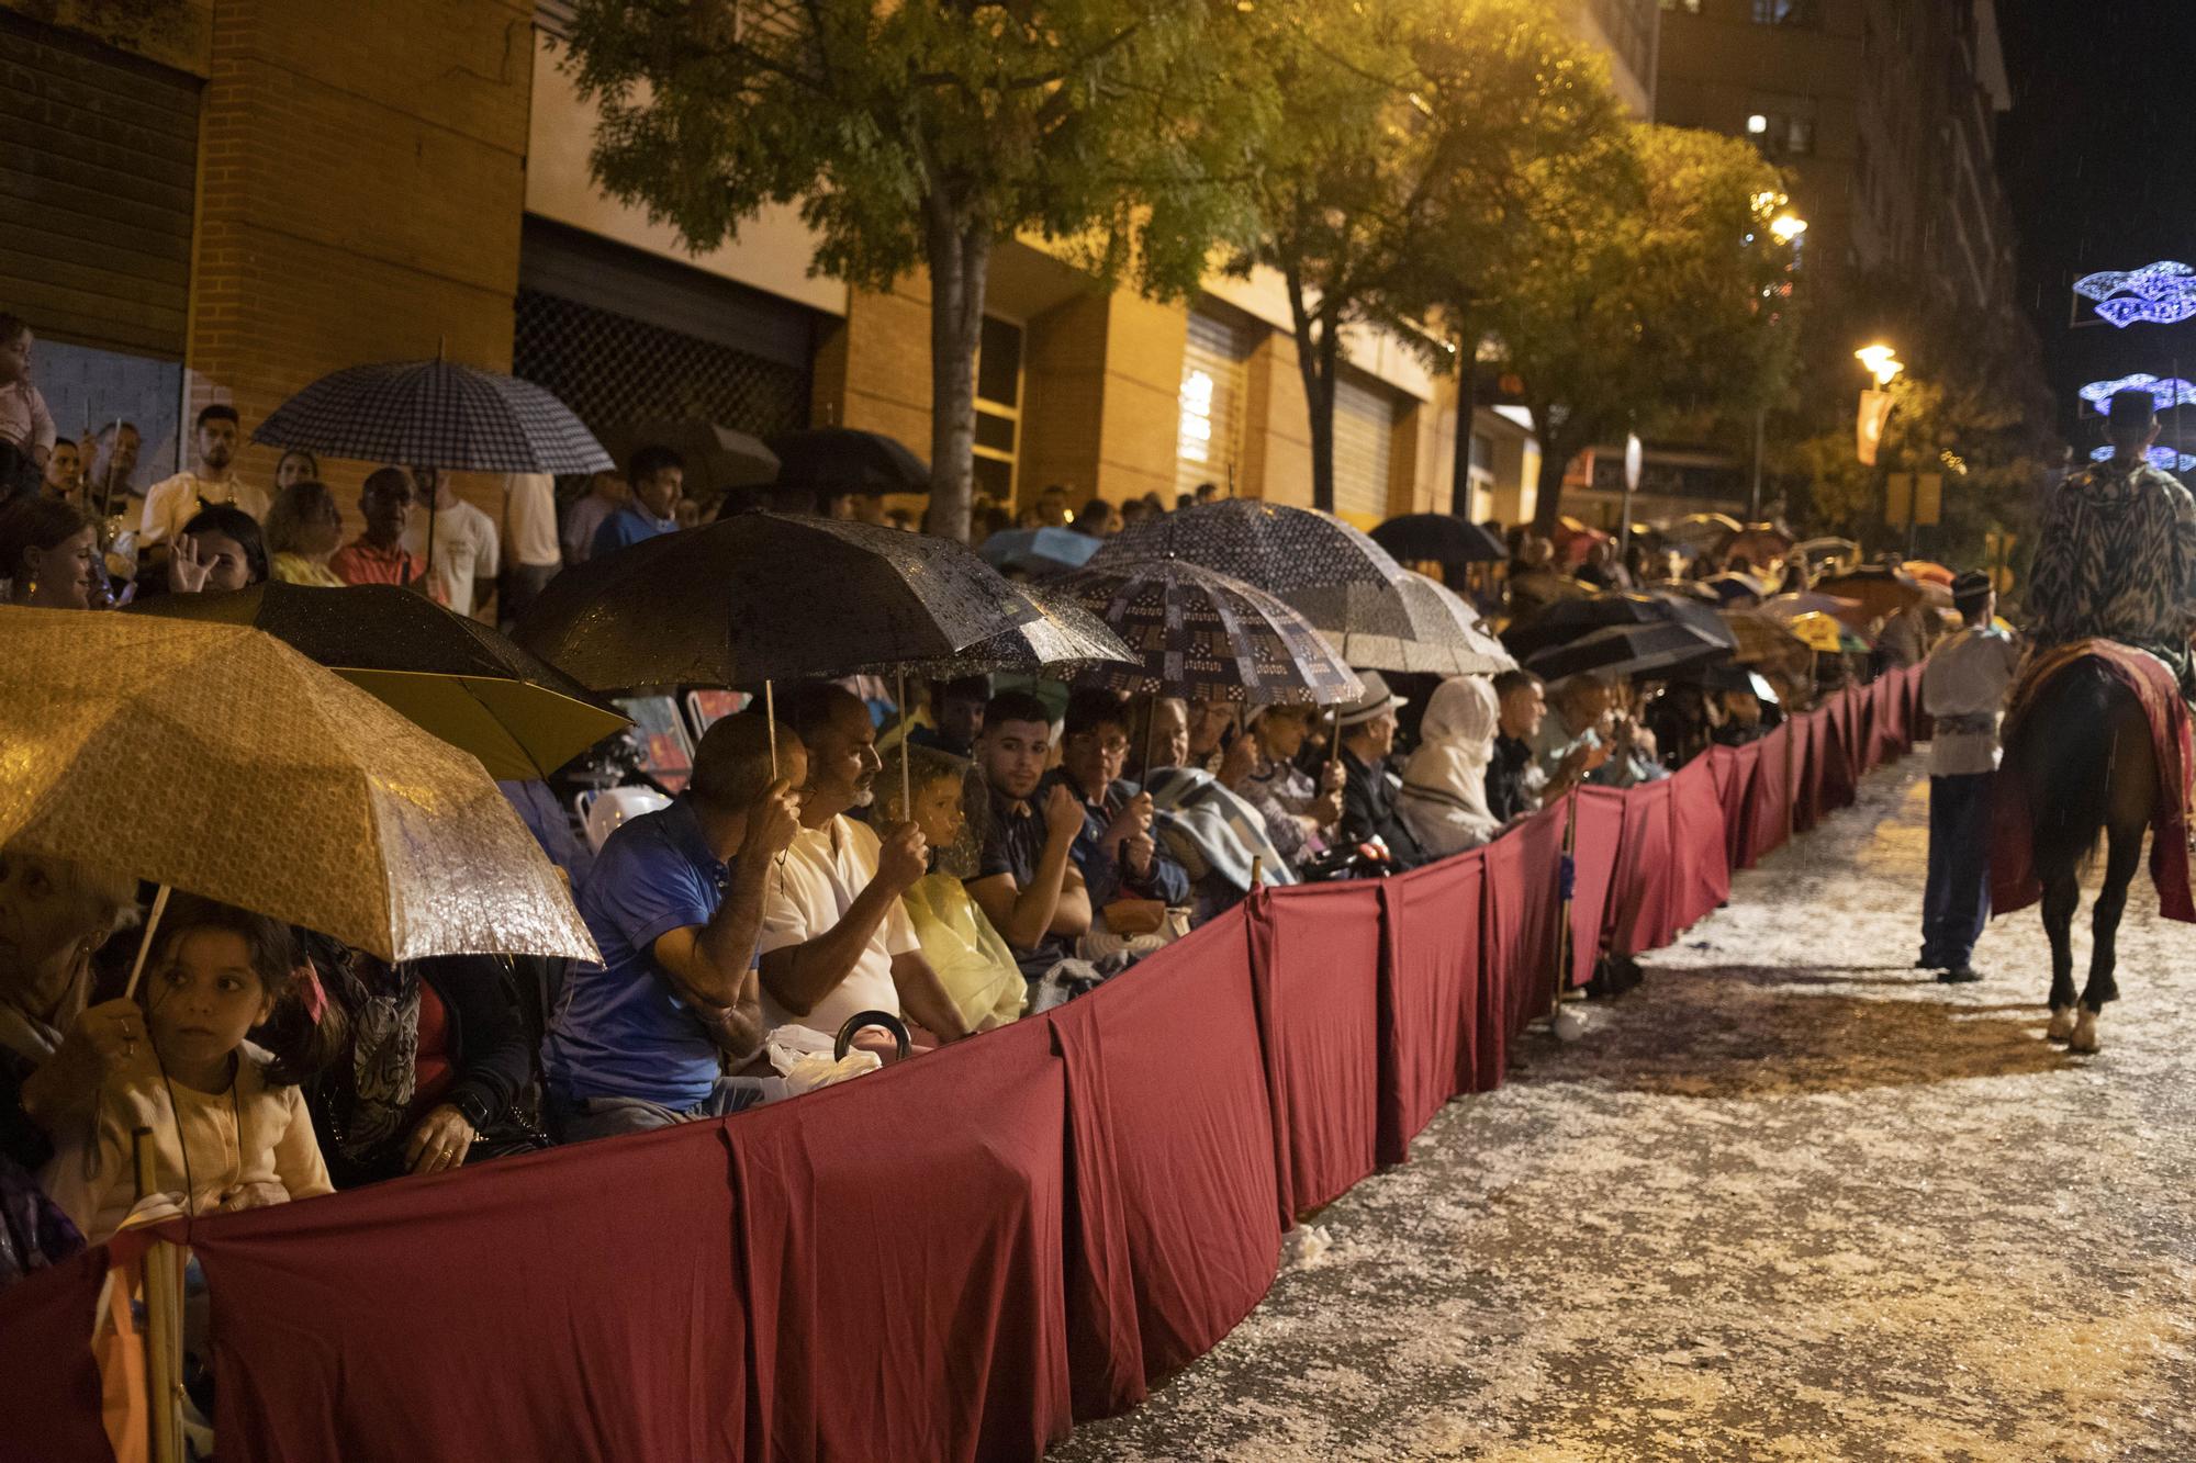
{"type": "Polygon", "coordinates": [[[88,1109],[112,1065],[147,1050],[134,1004],[83,1004],[92,956],[134,918],[132,881],[0,850],[0,1153],[24,1169],[53,1155],[48,1129],[88,1109]]]}

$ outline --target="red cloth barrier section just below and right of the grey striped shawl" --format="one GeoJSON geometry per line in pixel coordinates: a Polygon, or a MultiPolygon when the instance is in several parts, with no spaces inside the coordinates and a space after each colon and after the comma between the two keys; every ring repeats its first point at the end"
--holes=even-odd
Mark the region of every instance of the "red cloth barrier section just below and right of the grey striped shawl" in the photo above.
{"type": "Polygon", "coordinates": [[[1265,890],[1250,903],[1282,1193],[1302,1215],[1379,1164],[1379,885],[1265,890]]]}

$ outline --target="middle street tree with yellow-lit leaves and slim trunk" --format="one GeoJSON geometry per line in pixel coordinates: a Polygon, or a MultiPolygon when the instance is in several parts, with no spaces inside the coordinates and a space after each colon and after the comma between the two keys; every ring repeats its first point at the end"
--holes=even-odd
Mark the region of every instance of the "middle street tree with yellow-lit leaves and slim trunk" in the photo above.
{"type": "Polygon", "coordinates": [[[1504,270],[1506,220],[1566,160],[1618,132],[1605,64],[1522,0],[1276,7],[1258,55],[1280,97],[1252,171],[1256,244],[1280,272],[1311,411],[1311,492],[1335,503],[1335,387],[1346,338],[1430,325],[1504,270]]]}

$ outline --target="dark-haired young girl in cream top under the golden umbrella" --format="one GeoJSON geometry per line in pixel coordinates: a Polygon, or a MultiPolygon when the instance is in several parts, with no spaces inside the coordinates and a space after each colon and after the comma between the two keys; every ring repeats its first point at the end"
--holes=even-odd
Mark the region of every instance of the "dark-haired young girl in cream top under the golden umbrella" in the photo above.
{"type": "Polygon", "coordinates": [[[178,894],[138,1002],[147,1041],[99,1092],[97,1118],[61,1136],[46,1193],[90,1243],[136,1202],[130,1133],[152,1129],[154,1182],[184,1213],[213,1215],[334,1193],[301,1076],[340,1037],[292,984],[288,925],[178,894]],[[246,1041],[257,1030],[266,1046],[246,1041]]]}

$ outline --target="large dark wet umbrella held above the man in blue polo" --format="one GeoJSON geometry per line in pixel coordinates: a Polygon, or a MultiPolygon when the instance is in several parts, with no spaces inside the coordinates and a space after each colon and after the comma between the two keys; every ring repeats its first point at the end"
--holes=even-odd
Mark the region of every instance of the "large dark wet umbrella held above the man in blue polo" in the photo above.
{"type": "Polygon", "coordinates": [[[516,639],[593,690],[762,685],[951,659],[1039,615],[949,538],[740,514],[567,569],[516,639]]]}

